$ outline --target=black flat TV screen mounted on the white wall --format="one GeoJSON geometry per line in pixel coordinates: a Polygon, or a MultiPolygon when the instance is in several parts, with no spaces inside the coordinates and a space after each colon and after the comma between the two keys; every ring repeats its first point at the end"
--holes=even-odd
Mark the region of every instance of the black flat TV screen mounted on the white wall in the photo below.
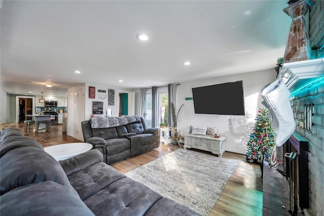
{"type": "Polygon", "coordinates": [[[195,114],[245,115],[243,82],[192,88],[195,114]]]}

